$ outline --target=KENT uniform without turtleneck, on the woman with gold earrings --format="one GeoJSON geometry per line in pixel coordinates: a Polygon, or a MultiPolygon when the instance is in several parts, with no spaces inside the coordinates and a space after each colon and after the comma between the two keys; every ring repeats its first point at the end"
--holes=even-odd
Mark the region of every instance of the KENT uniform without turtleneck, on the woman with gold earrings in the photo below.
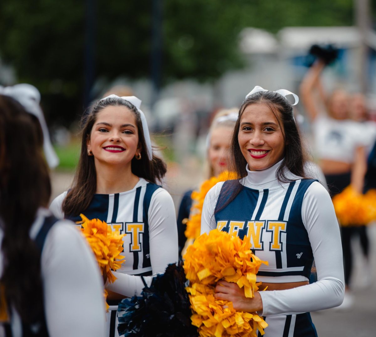
{"type": "MultiPolygon", "coordinates": [[[[79,216],[64,215],[62,203],[64,192],[51,203],[56,216],[80,221],[79,216]]],[[[177,256],[177,227],[173,200],[166,190],[139,178],[135,187],[115,194],[95,194],[89,207],[82,213],[89,219],[98,218],[111,225],[113,230],[126,234],[123,241],[125,262],[114,272],[117,280],[107,283],[106,289],[126,297],[140,295],[152,276],[164,273],[177,256]],[[140,276],[143,276],[142,278],[140,276]],[[146,284],[144,283],[146,282],[146,284]]],[[[107,334],[118,336],[117,304],[109,301],[107,334]]]]}

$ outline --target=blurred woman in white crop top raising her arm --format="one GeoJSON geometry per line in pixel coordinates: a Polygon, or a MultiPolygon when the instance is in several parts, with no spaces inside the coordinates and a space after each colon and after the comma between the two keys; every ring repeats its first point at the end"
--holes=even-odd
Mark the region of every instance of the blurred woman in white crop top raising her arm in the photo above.
{"type": "MultiPolygon", "coordinates": [[[[366,164],[366,141],[358,125],[349,120],[351,97],[343,90],[335,90],[328,97],[320,82],[326,63],[318,59],[303,78],[300,90],[305,110],[311,120],[314,150],[333,198],[351,185],[362,193],[366,164]],[[324,111],[317,104],[318,90],[324,111]]],[[[341,308],[351,307],[353,298],[349,291],[351,253],[344,227],[342,231],[346,292],[341,308]]],[[[345,229],[346,231],[346,229],[345,229]]]]}

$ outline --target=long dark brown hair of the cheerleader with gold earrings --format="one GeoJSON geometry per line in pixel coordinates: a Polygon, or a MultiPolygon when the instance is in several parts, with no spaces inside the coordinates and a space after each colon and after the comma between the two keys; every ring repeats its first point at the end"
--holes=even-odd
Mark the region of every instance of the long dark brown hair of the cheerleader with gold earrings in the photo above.
{"type": "Polygon", "coordinates": [[[87,141],[90,139],[91,129],[96,122],[97,114],[108,106],[123,106],[135,114],[136,126],[138,129],[138,141],[141,145],[141,159],[132,159],[132,173],[154,184],[160,182],[166,173],[166,164],[161,158],[153,154],[152,160],[149,160],[149,157],[147,156],[141,116],[137,108],[132,103],[116,96],[99,100],[92,106],[89,114],[84,115],[81,120],[82,141],[80,159],[72,188],[68,191],[62,205],[62,210],[65,215],[76,216],[84,212],[89,207],[90,202],[96,193],[96,168],[94,157],[88,156],[87,141]]]}

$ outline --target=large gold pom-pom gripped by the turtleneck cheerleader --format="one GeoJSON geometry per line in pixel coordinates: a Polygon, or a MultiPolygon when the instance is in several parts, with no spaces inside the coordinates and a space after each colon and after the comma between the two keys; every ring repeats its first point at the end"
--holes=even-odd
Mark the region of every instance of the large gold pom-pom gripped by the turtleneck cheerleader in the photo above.
{"type": "Polygon", "coordinates": [[[264,334],[268,324],[256,313],[236,311],[232,302],[214,298],[217,281],[237,283],[244,295],[254,296],[260,283],[256,273],[261,261],[251,251],[249,238],[241,240],[217,229],[204,233],[188,247],[183,259],[186,278],[190,280],[187,292],[193,311],[192,324],[199,328],[200,336],[250,336],[256,331],[264,334]]]}

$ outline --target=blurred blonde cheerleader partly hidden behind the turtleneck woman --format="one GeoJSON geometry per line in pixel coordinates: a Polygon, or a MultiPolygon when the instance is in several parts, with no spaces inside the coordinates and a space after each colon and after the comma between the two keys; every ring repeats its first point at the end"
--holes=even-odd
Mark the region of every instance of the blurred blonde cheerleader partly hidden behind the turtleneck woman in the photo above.
{"type": "MultiPolygon", "coordinates": [[[[224,109],[218,111],[211,123],[206,136],[206,167],[208,178],[217,177],[228,170],[230,140],[238,118],[238,109],[224,109]]],[[[183,194],[177,214],[177,232],[179,239],[179,258],[184,254],[183,248],[187,240],[185,236],[186,222],[190,217],[192,207],[192,192],[188,190],[183,194]]],[[[191,241],[190,241],[191,242],[191,241]]]]}

